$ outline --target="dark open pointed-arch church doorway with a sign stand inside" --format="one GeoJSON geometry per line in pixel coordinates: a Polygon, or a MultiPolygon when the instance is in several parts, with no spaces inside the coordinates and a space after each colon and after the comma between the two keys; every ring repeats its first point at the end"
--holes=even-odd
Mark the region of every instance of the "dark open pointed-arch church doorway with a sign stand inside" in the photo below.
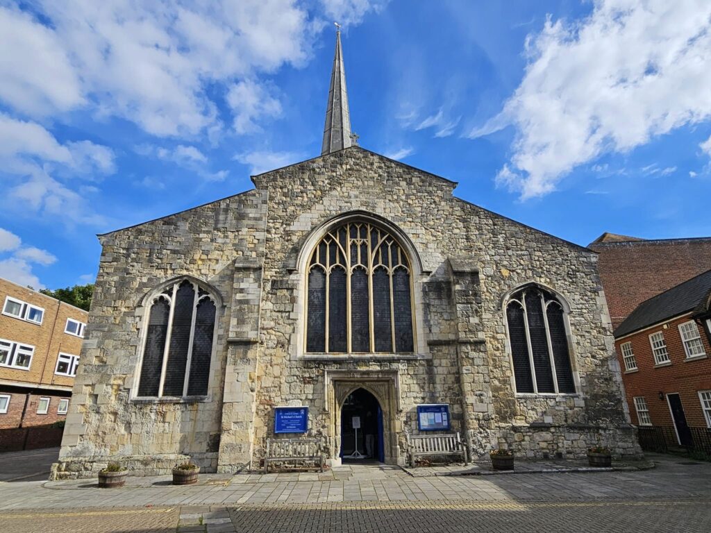
{"type": "Polygon", "coordinates": [[[385,461],[383,411],[375,396],[365,389],[348,394],[341,407],[341,458],[385,461]]]}

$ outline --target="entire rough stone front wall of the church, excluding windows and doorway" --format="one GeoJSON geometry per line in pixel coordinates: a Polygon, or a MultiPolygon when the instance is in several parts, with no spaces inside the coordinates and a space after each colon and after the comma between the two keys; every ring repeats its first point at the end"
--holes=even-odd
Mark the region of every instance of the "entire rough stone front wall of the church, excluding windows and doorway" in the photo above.
{"type": "Polygon", "coordinates": [[[390,462],[405,461],[417,404],[435,402],[450,404],[453,430],[475,454],[508,446],[536,457],[582,456],[596,443],[616,455],[639,453],[596,254],[459,200],[454,183],[359,147],[254,181],[242,195],[102,237],[55,477],[92,475],[109,459],[140,473],[164,473],[187,456],[208,471],[254,466],[279,405],[308,405],[310,433],[324,436],[337,460],[340,405],[326,380],[344,376],[375,379],[368,387],[390,413],[390,462]],[[348,213],[393,230],[414,250],[415,354],[303,353],[302,250],[348,213]],[[213,286],[224,304],[209,397],[137,402],[141,302],[186,274],[213,286]],[[503,298],[532,281],[570,304],[579,394],[514,394],[503,298]]]}

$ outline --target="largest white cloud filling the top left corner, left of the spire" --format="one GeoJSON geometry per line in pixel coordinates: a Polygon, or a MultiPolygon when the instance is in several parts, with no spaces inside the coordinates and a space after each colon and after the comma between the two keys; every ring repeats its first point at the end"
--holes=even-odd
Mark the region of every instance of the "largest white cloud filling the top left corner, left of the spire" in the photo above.
{"type": "Polygon", "coordinates": [[[303,64],[321,25],[296,0],[33,7],[41,16],[0,13],[0,99],[33,115],[85,107],[158,136],[213,127],[210,87],[303,64]]]}

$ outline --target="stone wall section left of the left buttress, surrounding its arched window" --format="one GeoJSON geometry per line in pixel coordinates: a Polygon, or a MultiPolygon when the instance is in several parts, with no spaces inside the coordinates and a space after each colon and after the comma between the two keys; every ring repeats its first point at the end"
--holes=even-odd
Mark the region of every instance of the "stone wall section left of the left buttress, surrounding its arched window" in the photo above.
{"type": "Polygon", "coordinates": [[[55,477],[95,475],[108,461],[137,473],[166,473],[188,456],[215,471],[228,341],[246,323],[230,318],[250,311],[235,265],[261,261],[264,215],[264,193],[252,190],[100,237],[100,270],[55,477]],[[141,302],[157,286],[185,274],[210,284],[223,302],[208,399],[132,399],[141,302]]]}

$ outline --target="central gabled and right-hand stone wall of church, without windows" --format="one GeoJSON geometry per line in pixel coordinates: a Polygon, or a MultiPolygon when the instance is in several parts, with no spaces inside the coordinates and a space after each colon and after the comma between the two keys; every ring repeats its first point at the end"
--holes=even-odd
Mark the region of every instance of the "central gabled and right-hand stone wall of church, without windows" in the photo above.
{"type": "MultiPolygon", "coordinates": [[[[596,254],[459,200],[453,183],[358,147],[257,176],[255,184],[269,190],[255,459],[271,436],[274,406],[309,404],[313,431],[328,430],[323,375],[333,369],[397,369],[403,433],[416,431],[417,404],[448,402],[454,429],[466,431],[476,453],[501,444],[535,456],[582,456],[587,446],[604,443],[617,454],[638,454],[621,401],[596,254]],[[312,231],[353,211],[400,228],[422,260],[416,313],[425,330],[415,358],[319,361],[301,353],[299,252],[312,231]],[[453,273],[449,260],[462,256],[469,268],[453,273]],[[502,298],[530,281],[555,289],[572,309],[580,387],[574,397],[513,394],[502,298]],[[537,437],[535,424],[563,437],[537,437]],[[525,429],[512,432],[514,426],[525,429]]],[[[400,461],[403,437],[397,436],[400,461]]]]}

